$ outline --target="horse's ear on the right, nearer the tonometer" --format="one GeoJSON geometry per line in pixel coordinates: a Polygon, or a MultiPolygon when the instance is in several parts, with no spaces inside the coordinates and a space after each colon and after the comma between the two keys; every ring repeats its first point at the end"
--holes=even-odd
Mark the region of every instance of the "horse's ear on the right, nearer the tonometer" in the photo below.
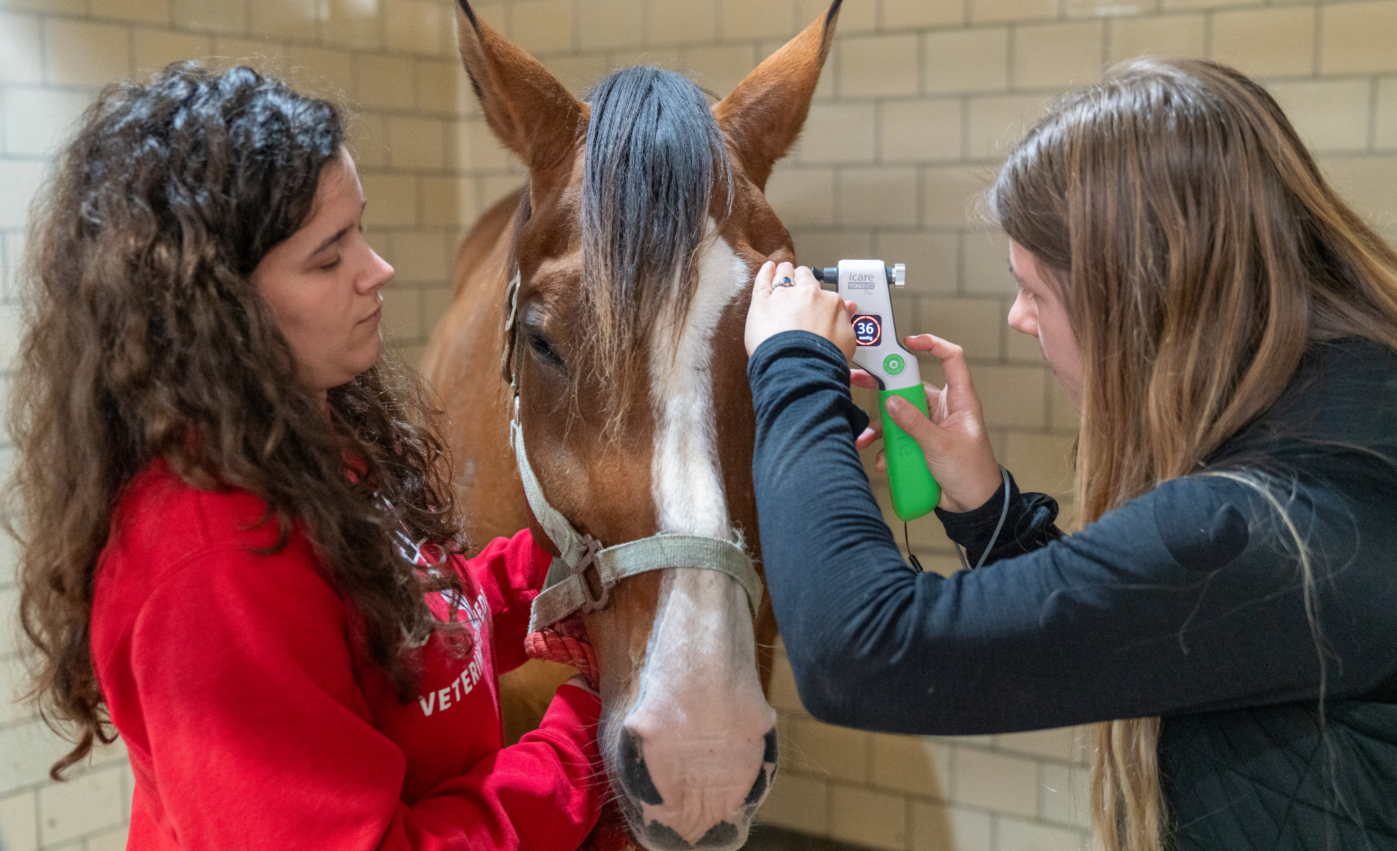
{"type": "Polygon", "coordinates": [[[830,11],[768,56],[712,107],[718,127],[757,188],[766,188],[771,166],[800,135],[824,59],[830,56],[841,3],[834,0],[830,11]]]}

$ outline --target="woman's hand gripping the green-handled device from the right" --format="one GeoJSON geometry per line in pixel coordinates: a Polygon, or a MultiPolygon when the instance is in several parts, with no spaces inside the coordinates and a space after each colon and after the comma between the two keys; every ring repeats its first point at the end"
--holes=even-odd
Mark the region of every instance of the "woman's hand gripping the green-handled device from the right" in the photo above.
{"type": "MultiPolygon", "coordinates": [[[[926,466],[942,485],[939,508],[953,512],[979,508],[1003,485],[1003,479],[995,460],[995,449],[989,444],[989,434],[985,431],[985,412],[971,382],[965,353],[956,343],[929,333],[909,336],[902,342],[914,352],[928,352],[940,359],[942,371],[946,372],[946,386],[937,389],[926,385],[926,407],[932,413],[930,417],[923,417],[916,406],[897,396],[887,400],[887,413],[922,446],[926,466]]],[[[877,379],[863,370],[852,370],[849,381],[858,386],[877,389],[877,379]]],[[[854,445],[868,449],[882,437],[883,419],[873,417],[854,445]]],[[[873,466],[879,470],[887,469],[882,449],[873,466]]]]}

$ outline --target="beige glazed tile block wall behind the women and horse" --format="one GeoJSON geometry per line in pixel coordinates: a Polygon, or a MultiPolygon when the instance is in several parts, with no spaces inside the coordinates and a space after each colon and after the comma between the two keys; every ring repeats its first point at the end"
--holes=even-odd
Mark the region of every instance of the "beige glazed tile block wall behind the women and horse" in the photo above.
{"type": "MultiPolygon", "coordinates": [[[[507,0],[479,11],[574,91],[620,64],[659,63],[722,95],[824,7],[507,0]]],[[[369,234],[398,271],[386,328],[415,361],[447,303],[457,236],[520,181],[462,85],[450,14],[447,0],[0,0],[0,400],[25,209],[56,140],[103,82],[175,59],[251,57],[356,109],[369,234]]],[[[1264,80],[1336,183],[1397,236],[1397,0],[845,0],[806,134],[768,187],[802,262],[908,264],[900,325],[965,346],[1000,459],[1030,488],[1067,487],[1074,414],[1035,343],[1004,326],[1006,243],[970,201],[1045,102],[1146,52],[1213,56],[1264,80]]],[[[0,474],[11,465],[0,437],[0,474]]],[[[909,533],[928,568],[954,569],[935,520],[909,533]]],[[[53,785],[45,769],[60,745],[7,699],[20,682],[13,562],[4,541],[0,836],[7,851],[119,848],[130,798],[120,749],[53,785]]],[[[1084,840],[1076,731],[923,739],[826,727],[800,710],[784,667],[773,700],[785,765],[761,816],[771,823],[918,851],[1084,840]]]]}

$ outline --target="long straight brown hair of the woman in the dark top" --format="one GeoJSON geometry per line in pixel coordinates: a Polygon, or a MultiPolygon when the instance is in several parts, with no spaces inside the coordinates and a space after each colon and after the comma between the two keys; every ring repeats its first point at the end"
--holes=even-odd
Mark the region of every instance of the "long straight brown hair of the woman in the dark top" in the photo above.
{"type": "MultiPolygon", "coordinates": [[[[1066,98],[1009,156],[990,209],[1049,269],[1081,350],[1083,523],[1206,472],[1312,342],[1397,349],[1397,253],[1275,100],[1215,63],[1137,60],[1066,98]]],[[[1108,851],[1161,848],[1158,734],[1160,718],[1095,725],[1108,851]]]]}

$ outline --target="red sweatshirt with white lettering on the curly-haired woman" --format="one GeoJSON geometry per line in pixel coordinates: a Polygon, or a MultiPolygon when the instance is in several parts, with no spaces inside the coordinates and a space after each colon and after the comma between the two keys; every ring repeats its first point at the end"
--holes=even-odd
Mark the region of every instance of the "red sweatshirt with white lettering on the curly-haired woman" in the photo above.
{"type": "Polygon", "coordinates": [[[599,700],[563,686],[538,731],[500,748],[496,675],[524,661],[549,564],[529,533],[454,559],[474,649],[433,633],[404,705],[355,649],[310,541],[251,551],[275,540],[261,515],[163,462],[113,515],[92,658],[136,774],[129,848],[577,848],[606,794],[599,700]]]}

